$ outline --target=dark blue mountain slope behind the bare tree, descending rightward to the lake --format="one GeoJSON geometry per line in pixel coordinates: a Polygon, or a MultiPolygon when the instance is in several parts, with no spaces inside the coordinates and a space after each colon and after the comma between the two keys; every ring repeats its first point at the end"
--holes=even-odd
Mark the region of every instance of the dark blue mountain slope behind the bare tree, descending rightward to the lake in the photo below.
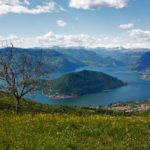
{"type": "MultiPolygon", "coordinates": [[[[22,55],[23,53],[30,53],[33,57],[33,60],[36,61],[37,56],[41,55],[41,49],[23,49],[23,48],[14,48],[13,51],[16,56],[22,55]]],[[[0,53],[2,55],[6,54],[6,48],[0,49],[0,53]]],[[[50,68],[56,68],[56,71],[73,71],[79,67],[83,66],[83,63],[80,61],[70,58],[65,54],[60,52],[50,50],[50,49],[43,49],[42,55],[44,56],[44,65],[45,71],[48,71],[50,68]]],[[[16,57],[17,58],[17,57],[16,57]]]]}

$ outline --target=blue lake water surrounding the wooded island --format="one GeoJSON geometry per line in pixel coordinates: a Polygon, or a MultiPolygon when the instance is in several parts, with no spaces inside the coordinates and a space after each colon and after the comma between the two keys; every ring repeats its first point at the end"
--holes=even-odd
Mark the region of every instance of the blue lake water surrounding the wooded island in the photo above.
{"type": "MultiPolygon", "coordinates": [[[[127,101],[145,100],[150,98],[150,81],[141,80],[139,73],[131,71],[127,67],[120,67],[120,68],[85,67],[80,68],[76,71],[83,69],[102,71],[104,73],[110,74],[123,81],[128,82],[128,85],[107,92],[101,92],[88,96],[64,100],[54,100],[48,98],[42,95],[42,92],[30,94],[28,95],[28,97],[42,103],[73,105],[73,106],[104,106],[118,101],[127,102],[127,101]]],[[[57,73],[56,76],[59,77],[62,74],[63,73],[57,73]]]]}

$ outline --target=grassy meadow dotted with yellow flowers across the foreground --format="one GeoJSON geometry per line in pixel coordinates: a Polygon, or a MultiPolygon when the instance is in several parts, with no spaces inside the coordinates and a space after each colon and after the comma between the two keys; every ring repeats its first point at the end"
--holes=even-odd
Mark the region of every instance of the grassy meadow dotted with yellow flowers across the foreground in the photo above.
{"type": "Polygon", "coordinates": [[[149,150],[150,115],[0,112],[0,150],[149,150]]]}

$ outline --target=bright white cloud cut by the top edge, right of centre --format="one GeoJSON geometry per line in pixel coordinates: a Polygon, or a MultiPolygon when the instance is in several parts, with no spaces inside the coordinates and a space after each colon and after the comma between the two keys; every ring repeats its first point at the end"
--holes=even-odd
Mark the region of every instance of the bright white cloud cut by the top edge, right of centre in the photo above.
{"type": "Polygon", "coordinates": [[[99,9],[102,7],[124,8],[128,0],[70,0],[69,7],[76,9],[99,9]]]}

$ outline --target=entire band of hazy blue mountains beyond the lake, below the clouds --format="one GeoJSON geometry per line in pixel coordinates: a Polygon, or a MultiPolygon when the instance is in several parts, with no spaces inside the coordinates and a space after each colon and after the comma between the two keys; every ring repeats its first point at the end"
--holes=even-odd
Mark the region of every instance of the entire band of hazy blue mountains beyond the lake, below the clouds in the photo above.
{"type": "MultiPolygon", "coordinates": [[[[30,52],[34,58],[41,54],[42,48],[15,48],[16,54],[30,52]]],[[[5,48],[0,52],[5,54],[5,48]]],[[[150,67],[150,52],[131,51],[128,49],[85,49],[85,48],[47,48],[42,49],[45,65],[50,65],[58,71],[73,71],[83,66],[119,67],[128,66],[136,70],[150,67]]]]}

